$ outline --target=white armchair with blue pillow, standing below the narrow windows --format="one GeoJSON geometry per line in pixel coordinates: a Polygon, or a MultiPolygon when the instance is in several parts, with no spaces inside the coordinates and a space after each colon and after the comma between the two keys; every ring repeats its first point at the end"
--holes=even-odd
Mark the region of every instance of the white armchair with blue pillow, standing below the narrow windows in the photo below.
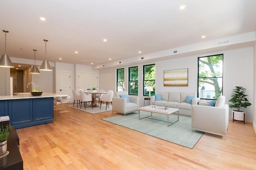
{"type": "Polygon", "coordinates": [[[130,102],[126,102],[126,98],[120,98],[119,95],[127,94],[127,92],[116,92],[116,97],[112,98],[112,112],[118,112],[126,115],[127,113],[132,113],[138,111],[139,109],[139,97],[138,96],[128,96],[130,102]]]}

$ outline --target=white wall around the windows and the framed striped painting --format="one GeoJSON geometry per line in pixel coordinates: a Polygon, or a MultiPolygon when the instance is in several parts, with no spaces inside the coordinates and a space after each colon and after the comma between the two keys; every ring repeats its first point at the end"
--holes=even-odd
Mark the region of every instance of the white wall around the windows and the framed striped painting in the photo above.
{"type": "MultiPolygon", "coordinates": [[[[245,47],[240,49],[232,49],[227,51],[216,51],[212,53],[205,53],[200,55],[191,55],[187,57],[180,57],[174,59],[166,59],[156,61],[156,92],[158,91],[176,91],[176,92],[197,92],[197,58],[224,54],[224,72],[223,72],[223,95],[226,96],[226,104],[231,104],[228,100],[231,98],[232,89],[235,86],[244,86],[247,89],[248,100],[253,102],[253,56],[254,48],[245,47]],[[188,86],[187,87],[167,87],[164,86],[163,74],[164,70],[188,68],[188,86]]],[[[144,64],[137,64],[142,68],[144,64]]],[[[152,63],[150,63],[152,64],[152,63]]],[[[130,65],[135,66],[135,65],[130,65]]],[[[123,68],[128,68],[125,66],[123,68]]],[[[127,70],[125,74],[127,75],[127,70]]],[[[142,70],[140,70],[142,72],[142,70]]],[[[127,80],[126,76],[126,80],[127,80]]],[[[139,82],[142,82],[142,76],[139,77],[139,82]]],[[[140,85],[139,87],[141,87],[140,85]]],[[[116,69],[110,68],[107,70],[100,70],[100,87],[116,89],[116,69]]],[[[127,86],[126,86],[127,89],[127,86]]],[[[116,91],[116,90],[114,90],[116,91]]],[[[139,88],[140,106],[144,106],[144,97],[142,96],[142,89],[139,88]]],[[[252,121],[252,106],[244,109],[246,111],[246,121],[252,121]]],[[[230,109],[231,119],[231,109],[230,109]]]]}

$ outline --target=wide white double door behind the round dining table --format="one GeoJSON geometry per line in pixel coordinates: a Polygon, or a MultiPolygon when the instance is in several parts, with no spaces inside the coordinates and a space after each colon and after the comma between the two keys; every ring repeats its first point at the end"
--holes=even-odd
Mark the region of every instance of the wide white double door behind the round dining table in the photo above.
{"type": "Polygon", "coordinates": [[[98,74],[78,72],[78,90],[92,90],[95,87],[98,90],[98,74]]]}

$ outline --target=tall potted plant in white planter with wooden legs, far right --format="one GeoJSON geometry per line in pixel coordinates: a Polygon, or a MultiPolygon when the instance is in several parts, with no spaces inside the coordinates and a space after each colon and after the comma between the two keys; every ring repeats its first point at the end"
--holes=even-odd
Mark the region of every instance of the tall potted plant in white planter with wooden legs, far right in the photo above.
{"type": "Polygon", "coordinates": [[[242,86],[236,86],[235,89],[232,91],[232,98],[228,101],[231,102],[232,104],[229,105],[230,108],[236,108],[237,110],[232,111],[232,119],[233,122],[234,120],[239,120],[239,121],[244,121],[245,122],[245,111],[241,111],[240,107],[246,108],[247,106],[251,106],[252,104],[248,101],[246,98],[246,89],[243,88],[242,86]],[[234,114],[234,117],[233,117],[234,114]]]}

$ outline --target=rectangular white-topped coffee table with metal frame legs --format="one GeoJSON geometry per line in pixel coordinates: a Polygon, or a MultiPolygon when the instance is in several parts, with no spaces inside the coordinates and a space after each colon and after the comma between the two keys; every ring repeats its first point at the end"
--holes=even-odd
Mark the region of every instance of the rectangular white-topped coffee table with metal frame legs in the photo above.
{"type": "MultiPolygon", "coordinates": [[[[162,115],[167,115],[167,127],[169,127],[170,125],[172,125],[172,124],[176,123],[177,121],[179,121],[179,109],[169,107],[166,110],[162,110],[160,108],[161,108],[160,106],[156,106],[156,107],[152,107],[152,106],[140,107],[139,111],[138,111],[138,113],[139,113],[139,120],[140,119],[145,119],[145,118],[154,119],[154,118],[151,118],[152,113],[158,113],[158,114],[162,114],[162,115]],[[142,111],[151,112],[151,115],[141,118],[140,117],[140,111],[141,110],[142,111]],[[178,120],[169,123],[169,115],[172,114],[172,113],[176,113],[176,112],[177,112],[178,120]]],[[[155,120],[159,120],[159,119],[155,119],[155,120]]],[[[160,120],[160,121],[162,121],[162,120],[160,120]]]]}

